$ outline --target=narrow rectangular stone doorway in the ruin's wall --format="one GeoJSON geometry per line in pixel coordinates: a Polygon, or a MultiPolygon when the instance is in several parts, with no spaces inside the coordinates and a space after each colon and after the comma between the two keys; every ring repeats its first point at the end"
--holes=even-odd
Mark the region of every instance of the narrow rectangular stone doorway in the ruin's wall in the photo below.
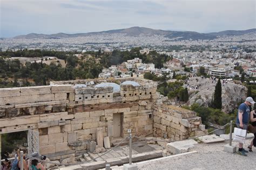
{"type": "Polygon", "coordinates": [[[122,136],[122,121],[123,113],[113,114],[113,137],[118,138],[122,136]]]}

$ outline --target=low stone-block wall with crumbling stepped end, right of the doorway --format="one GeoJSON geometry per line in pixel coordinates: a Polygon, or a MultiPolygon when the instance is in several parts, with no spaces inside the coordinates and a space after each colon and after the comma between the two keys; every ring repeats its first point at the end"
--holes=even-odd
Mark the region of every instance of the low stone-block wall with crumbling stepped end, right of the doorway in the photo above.
{"type": "Polygon", "coordinates": [[[153,110],[153,132],[156,137],[183,140],[206,133],[196,112],[171,105],[156,105],[153,110]]]}

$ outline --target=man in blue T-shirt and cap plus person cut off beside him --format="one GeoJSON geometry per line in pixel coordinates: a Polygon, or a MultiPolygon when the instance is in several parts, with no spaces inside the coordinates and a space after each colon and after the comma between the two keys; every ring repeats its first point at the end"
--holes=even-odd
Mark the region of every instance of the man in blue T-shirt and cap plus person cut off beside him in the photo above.
{"type": "Polygon", "coordinates": [[[238,128],[248,130],[254,134],[254,138],[248,146],[248,150],[243,148],[242,143],[238,144],[239,148],[237,153],[244,156],[247,156],[246,153],[252,152],[253,146],[256,147],[256,110],[250,110],[250,107],[252,107],[254,103],[252,97],[247,97],[245,102],[239,105],[237,121],[235,122],[238,128]],[[248,125],[249,121],[251,121],[250,125],[248,125]]]}

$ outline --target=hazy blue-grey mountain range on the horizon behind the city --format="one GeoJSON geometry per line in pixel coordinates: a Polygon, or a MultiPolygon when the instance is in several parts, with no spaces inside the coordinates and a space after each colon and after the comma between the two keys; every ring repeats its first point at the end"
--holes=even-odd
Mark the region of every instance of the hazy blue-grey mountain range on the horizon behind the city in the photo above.
{"type": "Polygon", "coordinates": [[[250,30],[227,30],[220,32],[212,32],[212,33],[199,33],[193,31],[165,31],[165,30],[154,30],[146,27],[130,27],[128,29],[119,29],[119,30],[109,30],[109,31],[101,31],[101,32],[89,32],[89,33],[76,33],[76,34],[66,34],[66,33],[56,33],[56,34],[37,34],[30,33],[27,35],[16,36],[15,39],[58,39],[58,38],[72,38],[72,37],[85,37],[91,35],[100,35],[100,34],[118,34],[123,33],[126,36],[153,36],[160,35],[170,39],[178,39],[178,40],[198,40],[198,39],[214,39],[217,36],[238,36],[247,33],[256,33],[256,29],[250,30]]]}

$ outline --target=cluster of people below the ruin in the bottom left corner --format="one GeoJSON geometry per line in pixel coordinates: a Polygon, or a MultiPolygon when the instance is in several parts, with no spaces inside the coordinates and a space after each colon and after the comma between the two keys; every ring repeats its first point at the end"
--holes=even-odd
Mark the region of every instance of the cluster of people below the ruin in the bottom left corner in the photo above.
{"type": "Polygon", "coordinates": [[[45,170],[45,165],[42,165],[41,162],[39,161],[41,159],[41,155],[38,154],[38,152],[34,152],[31,154],[31,157],[27,158],[25,157],[25,154],[23,155],[23,169],[21,169],[21,149],[17,149],[17,152],[15,154],[15,159],[12,161],[8,161],[6,163],[6,159],[4,162],[4,165],[1,166],[1,170],[28,170],[29,167],[31,166],[32,170],[45,170]]]}

